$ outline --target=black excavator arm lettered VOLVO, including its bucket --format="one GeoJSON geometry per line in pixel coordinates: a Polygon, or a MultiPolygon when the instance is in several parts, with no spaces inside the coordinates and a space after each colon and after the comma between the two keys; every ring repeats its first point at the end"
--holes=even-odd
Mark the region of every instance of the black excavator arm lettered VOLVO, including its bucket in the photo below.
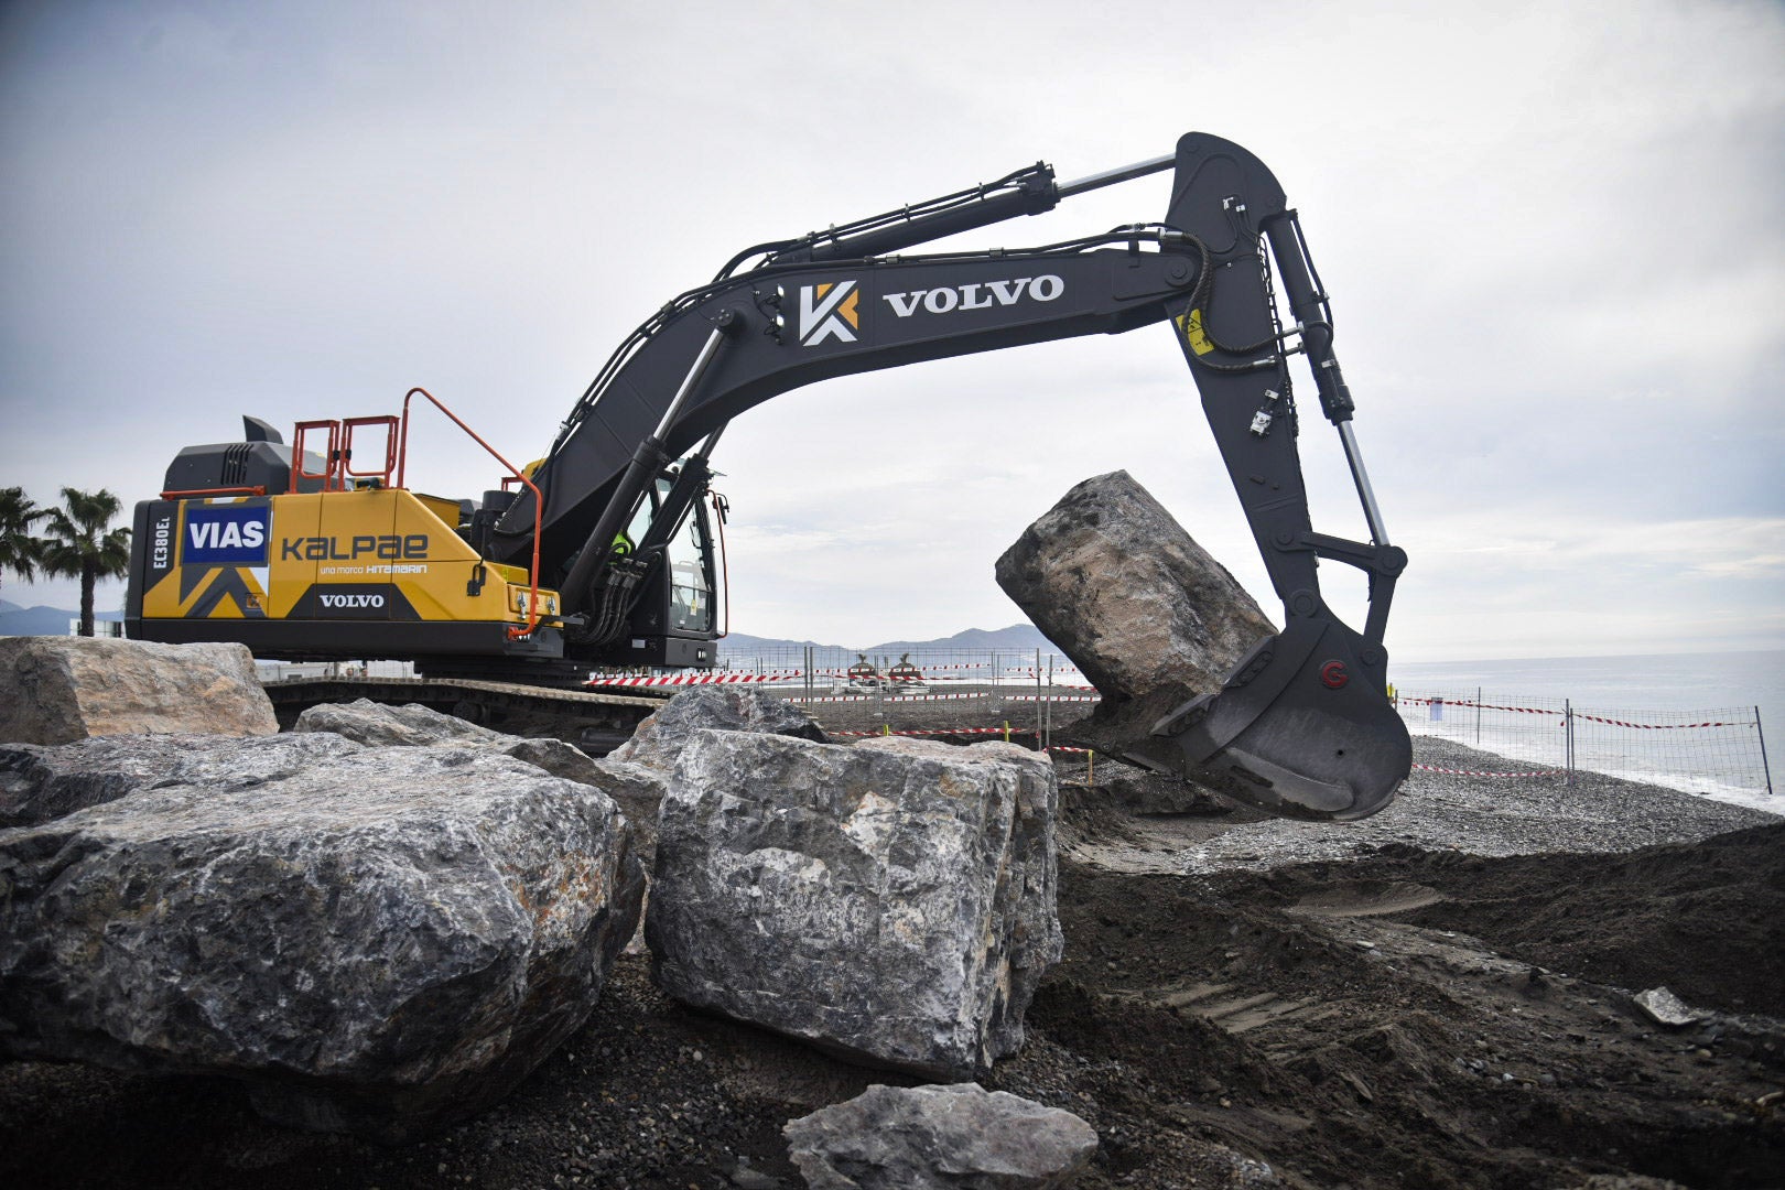
{"type": "MultiPolygon", "coordinates": [[[[610,542],[669,460],[693,451],[687,466],[703,475],[743,410],[830,376],[1167,321],[1283,601],[1285,628],[1258,642],[1223,690],[1160,721],[1133,758],[1276,814],[1355,819],[1380,810],[1412,762],[1383,694],[1383,630],[1407,558],[1387,541],[1357,448],[1330,307],[1296,214],[1257,157],[1205,134],[1180,139],[1171,157],[1078,182],[1057,184],[1035,166],[991,187],[760,244],[659,310],[591,384],[534,475],[541,558],[557,567],[571,614],[568,651],[625,632],[627,592],[646,562],[610,542]],[[1167,168],[1171,205],[1155,225],[1026,250],[892,255],[1167,168]],[[1292,355],[1307,357],[1321,410],[1339,430],[1369,542],[1312,528],[1292,355]],[[1362,632],[1326,607],[1319,558],[1367,573],[1362,632]]],[[[496,525],[498,551],[511,558],[532,548],[532,503],[523,496],[496,525]]],[[[680,516],[675,501],[666,508],[680,516]]]]}

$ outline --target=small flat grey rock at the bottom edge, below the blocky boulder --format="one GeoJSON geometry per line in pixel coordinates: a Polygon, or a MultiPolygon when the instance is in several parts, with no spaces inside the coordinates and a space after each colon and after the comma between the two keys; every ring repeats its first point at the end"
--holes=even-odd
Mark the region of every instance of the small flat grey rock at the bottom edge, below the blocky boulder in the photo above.
{"type": "Polygon", "coordinates": [[[875,1085],[782,1136],[812,1190],[1044,1190],[1069,1185],[1098,1151],[1071,1111],[978,1083],[875,1085]]]}

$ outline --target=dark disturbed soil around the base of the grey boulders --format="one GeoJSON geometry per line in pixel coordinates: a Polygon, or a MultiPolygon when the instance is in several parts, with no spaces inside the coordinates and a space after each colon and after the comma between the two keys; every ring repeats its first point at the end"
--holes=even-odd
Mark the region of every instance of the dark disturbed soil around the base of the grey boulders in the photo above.
{"type": "MultiPolygon", "coordinates": [[[[1067,831],[1135,830],[1075,805],[1067,831]]],[[[1062,860],[1060,919],[1030,1040],[982,1081],[1098,1129],[1082,1186],[1785,1185],[1785,824],[1203,876],[1062,860]],[[1656,985],[1705,1017],[1651,1022],[1628,992],[1656,985]]],[[[396,1149],[266,1126],[227,1083],[0,1067],[0,1183],[791,1190],[782,1124],[869,1083],[910,1079],[693,1013],[628,954],[509,1101],[396,1149]]]]}

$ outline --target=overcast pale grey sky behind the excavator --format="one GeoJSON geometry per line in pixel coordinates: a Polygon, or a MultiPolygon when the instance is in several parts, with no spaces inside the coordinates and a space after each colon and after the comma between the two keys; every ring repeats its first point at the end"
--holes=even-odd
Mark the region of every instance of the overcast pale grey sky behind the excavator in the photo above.
{"type": "MultiPolygon", "coordinates": [[[[418,384],[534,459],[735,250],[1194,128],[1273,168],[1333,296],[1412,555],[1391,653],[1785,648],[1781,62],[1780,4],[12,0],[0,485],[129,507],[239,414],[396,412],[418,384]]],[[[1150,221],[1166,194],[960,243],[1150,221]]],[[[1303,423],[1316,528],[1367,535],[1303,423]]],[[[1280,619],[1162,326],[800,389],[716,466],[739,632],[1014,623],[992,562],[1116,467],[1280,619]]],[[[418,428],[412,485],[493,478],[418,428]]],[[[1355,571],[1323,578],[1360,623],[1355,571]]]]}

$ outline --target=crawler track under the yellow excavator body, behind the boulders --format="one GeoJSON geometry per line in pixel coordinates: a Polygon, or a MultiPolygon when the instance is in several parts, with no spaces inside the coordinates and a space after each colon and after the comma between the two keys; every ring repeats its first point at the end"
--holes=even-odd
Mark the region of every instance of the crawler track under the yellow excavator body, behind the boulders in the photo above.
{"type": "Polygon", "coordinates": [[[550,735],[605,755],[668,701],[668,694],[605,694],[559,690],[477,678],[286,678],[264,683],[278,726],[291,730],[307,707],[320,703],[419,703],[468,723],[512,735],[550,735]]]}

